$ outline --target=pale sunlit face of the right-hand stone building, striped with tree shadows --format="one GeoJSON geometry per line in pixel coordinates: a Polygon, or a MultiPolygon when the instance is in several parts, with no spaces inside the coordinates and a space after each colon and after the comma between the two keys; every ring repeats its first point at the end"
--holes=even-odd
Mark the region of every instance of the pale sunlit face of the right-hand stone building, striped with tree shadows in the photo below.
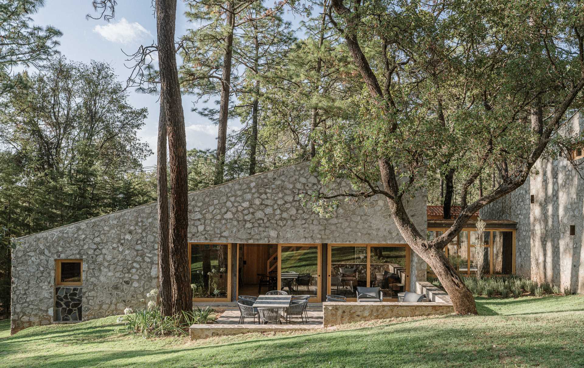
{"type": "MultiPolygon", "coordinates": [[[[562,134],[575,136],[583,129],[578,113],[562,134]]],[[[584,293],[584,179],[565,158],[540,160],[535,168],[540,173],[531,179],[532,278],[584,293]],[[575,235],[570,235],[570,225],[575,225],[575,235]]]]}

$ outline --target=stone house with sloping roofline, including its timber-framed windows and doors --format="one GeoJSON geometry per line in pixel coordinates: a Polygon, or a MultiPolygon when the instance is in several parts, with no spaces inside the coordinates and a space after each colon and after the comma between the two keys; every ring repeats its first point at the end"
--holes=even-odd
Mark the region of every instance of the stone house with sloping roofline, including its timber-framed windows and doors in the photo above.
{"type": "MultiPolygon", "coordinates": [[[[410,251],[383,197],[340,202],[332,218],[303,205],[321,188],[309,163],[290,165],[189,193],[194,301],[233,301],[270,289],[354,297],[356,286],[415,290],[426,264],[410,251]]],[[[426,193],[405,203],[426,231],[426,193]]],[[[157,203],[17,239],[12,255],[12,332],[31,325],[91,320],[141,308],[157,287],[157,203]]],[[[385,298],[384,298],[385,299],[385,298]]]]}

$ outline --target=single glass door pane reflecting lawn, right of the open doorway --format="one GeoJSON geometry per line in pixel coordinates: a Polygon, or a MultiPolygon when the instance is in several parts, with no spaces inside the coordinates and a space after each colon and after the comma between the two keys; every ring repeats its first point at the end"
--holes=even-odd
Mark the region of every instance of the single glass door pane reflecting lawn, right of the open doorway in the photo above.
{"type": "Polygon", "coordinates": [[[318,295],[318,246],[281,247],[281,289],[288,294],[318,295]]]}

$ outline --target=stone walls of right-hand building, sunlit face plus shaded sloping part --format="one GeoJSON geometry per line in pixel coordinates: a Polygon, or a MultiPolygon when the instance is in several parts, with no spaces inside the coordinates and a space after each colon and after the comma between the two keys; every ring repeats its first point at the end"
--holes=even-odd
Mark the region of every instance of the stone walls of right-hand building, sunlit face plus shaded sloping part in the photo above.
{"type": "MultiPolygon", "coordinates": [[[[576,113],[560,133],[576,136],[582,130],[582,113],[576,113]]],[[[518,273],[584,293],[584,179],[561,157],[540,159],[534,172],[521,188],[481,210],[481,216],[517,221],[518,273]],[[571,225],[575,235],[570,235],[571,225]]]]}

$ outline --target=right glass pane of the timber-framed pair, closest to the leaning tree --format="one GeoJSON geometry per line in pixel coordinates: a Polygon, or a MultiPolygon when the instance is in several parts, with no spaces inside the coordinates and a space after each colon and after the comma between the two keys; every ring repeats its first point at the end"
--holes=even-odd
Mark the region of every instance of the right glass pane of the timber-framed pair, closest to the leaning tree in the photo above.
{"type": "Polygon", "coordinates": [[[406,248],[370,247],[370,287],[380,287],[384,298],[397,298],[405,291],[406,248]]]}

